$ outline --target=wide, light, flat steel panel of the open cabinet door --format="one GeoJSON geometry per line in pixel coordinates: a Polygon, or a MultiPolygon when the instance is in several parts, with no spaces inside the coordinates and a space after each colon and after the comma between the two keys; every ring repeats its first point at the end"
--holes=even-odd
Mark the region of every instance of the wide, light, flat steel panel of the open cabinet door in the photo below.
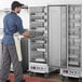
{"type": "Polygon", "coordinates": [[[60,66],[60,6],[49,8],[49,64],[60,66]]]}

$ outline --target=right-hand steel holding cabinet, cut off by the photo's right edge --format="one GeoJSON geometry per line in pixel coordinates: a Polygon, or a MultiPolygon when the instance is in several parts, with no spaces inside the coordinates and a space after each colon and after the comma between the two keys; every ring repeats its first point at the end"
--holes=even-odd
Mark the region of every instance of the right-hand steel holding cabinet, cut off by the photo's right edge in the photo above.
{"type": "Polygon", "coordinates": [[[62,38],[66,40],[66,44],[62,42],[62,56],[66,54],[66,59],[65,64],[62,62],[60,74],[82,78],[82,5],[70,4],[66,8],[66,37],[62,38]],[[63,50],[64,45],[66,50],[63,50]]]}

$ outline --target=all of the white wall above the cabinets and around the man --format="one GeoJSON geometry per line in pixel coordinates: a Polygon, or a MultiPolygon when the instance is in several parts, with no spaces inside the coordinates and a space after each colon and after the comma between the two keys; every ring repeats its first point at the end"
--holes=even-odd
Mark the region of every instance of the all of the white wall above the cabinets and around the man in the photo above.
{"type": "MultiPolygon", "coordinates": [[[[0,1],[0,10],[11,8],[11,3],[14,0],[2,0],[0,1]]],[[[40,5],[51,5],[51,4],[82,4],[82,0],[16,0],[28,6],[40,6],[40,5]]],[[[3,28],[2,19],[4,14],[0,12],[0,28],[3,28]]],[[[20,13],[23,18],[24,28],[29,28],[29,13],[23,10],[20,13]]]]}

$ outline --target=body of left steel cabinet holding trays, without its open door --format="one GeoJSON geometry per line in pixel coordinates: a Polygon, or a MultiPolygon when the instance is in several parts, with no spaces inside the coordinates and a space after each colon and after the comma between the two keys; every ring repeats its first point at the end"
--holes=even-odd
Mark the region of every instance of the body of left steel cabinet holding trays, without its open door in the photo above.
{"type": "Polygon", "coordinates": [[[47,8],[30,8],[29,71],[49,73],[47,65],[47,8]]]}

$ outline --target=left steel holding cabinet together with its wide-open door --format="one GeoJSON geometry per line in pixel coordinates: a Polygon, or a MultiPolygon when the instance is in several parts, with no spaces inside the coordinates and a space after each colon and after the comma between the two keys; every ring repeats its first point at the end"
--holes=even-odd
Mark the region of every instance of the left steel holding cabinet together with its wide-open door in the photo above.
{"type": "MultiPolygon", "coordinates": [[[[28,43],[29,71],[49,73],[59,69],[60,37],[66,31],[66,6],[31,6],[29,11],[29,31],[32,35],[28,43]]],[[[63,37],[66,38],[65,32],[63,37]]],[[[65,39],[63,42],[66,45],[65,39]]]]}

